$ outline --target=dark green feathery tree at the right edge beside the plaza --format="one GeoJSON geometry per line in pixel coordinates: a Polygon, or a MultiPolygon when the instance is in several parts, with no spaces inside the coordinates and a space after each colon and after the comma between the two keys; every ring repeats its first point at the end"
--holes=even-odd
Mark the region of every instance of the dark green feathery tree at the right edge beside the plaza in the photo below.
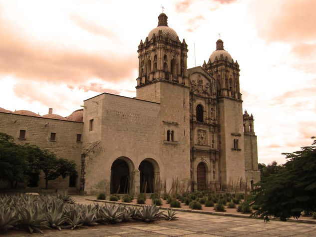
{"type": "Polygon", "coordinates": [[[301,151],[282,154],[289,159],[284,168],[257,183],[253,191],[252,205],[260,206],[253,215],[266,221],[269,217],[286,221],[299,218],[302,211],[316,211],[316,140],[301,151]]]}

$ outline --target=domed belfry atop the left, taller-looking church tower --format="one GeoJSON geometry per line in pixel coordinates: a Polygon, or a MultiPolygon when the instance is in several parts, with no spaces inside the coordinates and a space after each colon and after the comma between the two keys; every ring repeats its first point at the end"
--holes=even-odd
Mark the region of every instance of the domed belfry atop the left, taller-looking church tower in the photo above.
{"type": "Polygon", "coordinates": [[[189,86],[187,72],[188,45],[168,26],[168,16],[158,16],[158,26],[138,45],[137,99],[160,102],[159,93],[147,93],[148,85],[164,81],[189,86]]]}

